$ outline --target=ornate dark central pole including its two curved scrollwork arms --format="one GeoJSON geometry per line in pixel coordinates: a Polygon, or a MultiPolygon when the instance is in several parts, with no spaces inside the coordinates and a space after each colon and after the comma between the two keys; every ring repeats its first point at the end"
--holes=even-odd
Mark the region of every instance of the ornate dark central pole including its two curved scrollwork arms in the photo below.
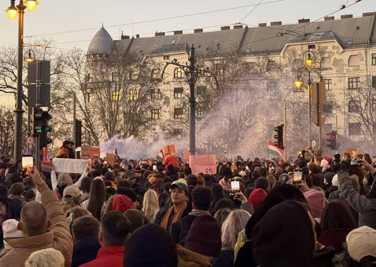
{"type": "Polygon", "coordinates": [[[219,90],[218,86],[218,81],[217,77],[209,71],[209,68],[206,67],[205,69],[198,69],[196,68],[196,59],[194,57],[194,46],[192,44],[190,48],[190,55],[188,57],[189,60],[189,65],[188,62],[185,65],[180,64],[177,62],[177,59],[173,59],[171,62],[167,62],[163,71],[162,71],[162,79],[163,75],[165,72],[165,69],[167,68],[168,65],[175,65],[179,66],[180,68],[183,69],[185,76],[188,77],[188,83],[190,86],[190,97],[189,97],[189,152],[191,152],[191,155],[196,155],[196,97],[194,95],[194,89],[196,86],[196,81],[197,78],[199,78],[200,73],[205,72],[208,74],[211,74],[214,77],[215,83],[217,84],[217,89],[219,90]]]}

